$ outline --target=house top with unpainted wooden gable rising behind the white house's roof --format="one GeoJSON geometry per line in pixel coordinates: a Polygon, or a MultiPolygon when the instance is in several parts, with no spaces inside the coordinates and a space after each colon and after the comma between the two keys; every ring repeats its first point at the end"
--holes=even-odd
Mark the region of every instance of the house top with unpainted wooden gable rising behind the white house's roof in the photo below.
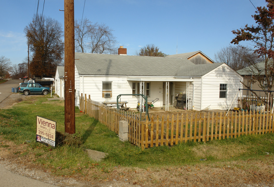
{"type": "Polygon", "coordinates": [[[181,53],[176,55],[167,55],[169,58],[185,58],[192,61],[194,64],[212,64],[215,63],[212,59],[206,56],[201,51],[194,51],[189,53],[181,53]]]}

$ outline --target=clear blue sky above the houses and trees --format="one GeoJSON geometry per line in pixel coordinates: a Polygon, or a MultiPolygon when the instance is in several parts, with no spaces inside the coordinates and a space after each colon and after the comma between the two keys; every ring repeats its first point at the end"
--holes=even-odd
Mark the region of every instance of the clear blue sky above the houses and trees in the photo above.
{"type": "MultiPolygon", "coordinates": [[[[85,0],[74,0],[75,19],[81,19],[85,0]]],[[[255,7],[264,0],[251,0],[255,7]]],[[[214,60],[221,47],[229,45],[232,30],[255,24],[256,9],[249,0],[86,0],[84,15],[92,22],[111,27],[118,46],[134,55],[154,44],[169,55],[202,51],[214,60]]],[[[24,28],[37,12],[38,0],[0,0],[0,56],[13,64],[27,57],[24,28]]],[[[44,1],[39,1],[42,14],[44,1]]],[[[45,0],[43,16],[58,20],[64,28],[63,0],[45,0]]],[[[242,43],[244,45],[244,43],[242,43]]]]}

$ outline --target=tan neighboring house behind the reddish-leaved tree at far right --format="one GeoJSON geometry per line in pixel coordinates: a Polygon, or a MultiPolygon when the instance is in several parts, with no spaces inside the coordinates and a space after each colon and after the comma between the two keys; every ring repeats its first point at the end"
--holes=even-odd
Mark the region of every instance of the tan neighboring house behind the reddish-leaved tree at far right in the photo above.
{"type": "MultiPolygon", "coordinates": [[[[260,75],[262,76],[262,78],[265,77],[265,72],[264,72],[264,64],[265,62],[260,62],[260,63],[257,63],[256,66],[248,66],[248,67],[244,67],[243,69],[240,69],[238,70],[237,72],[242,75],[244,77],[244,80],[243,80],[243,83],[246,84],[246,85],[250,85],[250,88],[252,90],[262,90],[262,88],[259,86],[259,83],[256,82],[256,83],[250,83],[249,80],[251,80],[251,76],[252,75],[260,75]]],[[[267,87],[267,82],[264,81],[264,85],[265,87],[267,87]]],[[[243,86],[244,89],[247,89],[247,87],[243,86]]],[[[261,96],[265,96],[264,92],[259,92],[259,91],[255,91],[256,94],[260,95],[262,94],[261,96]]],[[[243,95],[251,95],[252,92],[250,92],[249,90],[243,90],[243,95]]]]}

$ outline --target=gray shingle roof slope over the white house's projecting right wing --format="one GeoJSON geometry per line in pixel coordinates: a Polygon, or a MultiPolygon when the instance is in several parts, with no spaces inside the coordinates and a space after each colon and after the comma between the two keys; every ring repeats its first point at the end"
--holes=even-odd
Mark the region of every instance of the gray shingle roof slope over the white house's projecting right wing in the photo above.
{"type": "Polygon", "coordinates": [[[176,76],[203,76],[222,64],[224,63],[181,66],[179,67],[176,76]]]}

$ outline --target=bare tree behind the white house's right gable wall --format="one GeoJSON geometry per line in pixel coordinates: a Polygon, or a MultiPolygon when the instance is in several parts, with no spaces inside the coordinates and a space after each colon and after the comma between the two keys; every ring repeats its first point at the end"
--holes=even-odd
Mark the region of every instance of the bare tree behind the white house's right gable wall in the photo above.
{"type": "Polygon", "coordinates": [[[236,71],[263,60],[249,47],[240,45],[222,47],[214,56],[216,62],[226,63],[236,71]]]}

